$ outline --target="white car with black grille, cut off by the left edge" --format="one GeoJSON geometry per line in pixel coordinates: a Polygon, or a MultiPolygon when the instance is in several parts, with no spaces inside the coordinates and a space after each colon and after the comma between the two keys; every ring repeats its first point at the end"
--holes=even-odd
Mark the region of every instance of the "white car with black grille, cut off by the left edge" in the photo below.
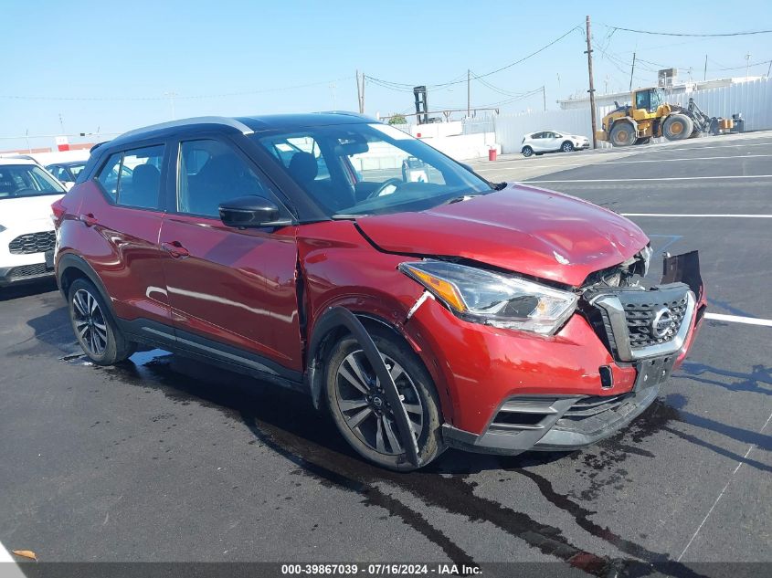
{"type": "Polygon", "coordinates": [[[53,275],[51,204],[64,194],[35,161],[0,158],[0,287],[53,275]]]}

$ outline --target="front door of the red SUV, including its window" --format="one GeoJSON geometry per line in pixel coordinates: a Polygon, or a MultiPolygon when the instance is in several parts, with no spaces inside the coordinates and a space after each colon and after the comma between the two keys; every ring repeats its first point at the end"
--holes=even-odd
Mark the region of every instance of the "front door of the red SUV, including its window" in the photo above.
{"type": "Polygon", "coordinates": [[[281,206],[274,185],[229,140],[201,137],[175,149],[175,206],[164,218],[160,240],[173,257],[164,261],[164,271],[177,341],[193,351],[298,378],[295,227],[228,227],[217,209],[249,194],[281,206]]]}

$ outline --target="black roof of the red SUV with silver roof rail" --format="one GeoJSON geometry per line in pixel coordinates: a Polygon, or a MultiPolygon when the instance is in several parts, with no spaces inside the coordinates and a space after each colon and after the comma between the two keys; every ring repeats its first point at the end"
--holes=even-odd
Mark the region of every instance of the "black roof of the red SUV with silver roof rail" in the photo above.
{"type": "MultiPolygon", "coordinates": [[[[180,121],[153,124],[141,129],[124,132],[110,144],[134,142],[151,137],[166,137],[173,134],[199,131],[221,130],[251,134],[252,132],[272,130],[294,130],[307,127],[329,126],[334,124],[360,124],[375,122],[375,119],[355,112],[308,112],[303,114],[269,114],[245,117],[196,117],[180,121]]],[[[96,148],[96,147],[94,147],[96,148]]],[[[91,149],[93,151],[93,149],[91,149]]]]}

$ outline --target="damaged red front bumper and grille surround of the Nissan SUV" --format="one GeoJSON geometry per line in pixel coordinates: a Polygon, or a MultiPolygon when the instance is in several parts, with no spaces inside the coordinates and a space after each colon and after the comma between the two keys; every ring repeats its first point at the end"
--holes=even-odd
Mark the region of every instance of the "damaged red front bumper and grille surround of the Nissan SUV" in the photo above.
{"type": "MultiPolygon", "coordinates": [[[[453,331],[445,331],[451,314],[427,302],[417,317],[425,324],[424,335],[430,331],[437,342],[432,349],[444,352],[439,358],[444,358],[447,371],[441,379],[454,401],[450,411],[443,407],[443,414],[451,416],[442,427],[446,443],[503,455],[570,450],[627,426],[682,363],[703,319],[705,297],[696,253],[668,257],[662,281],[664,285],[635,293],[587,290],[587,309],[552,338],[455,318],[453,331]],[[682,297],[675,300],[679,292],[682,297]],[[638,299],[640,294],[649,300],[638,299]],[[588,300],[615,295],[623,309],[631,311],[629,317],[593,319],[589,310],[600,318],[601,309],[588,300]],[[640,333],[640,320],[649,320],[646,308],[652,304],[671,307],[679,320],[662,340],[645,340],[640,333]],[[635,346],[623,347],[622,339],[635,346]]],[[[603,302],[608,306],[612,301],[603,302]]],[[[425,363],[431,367],[431,361],[425,363]]]]}

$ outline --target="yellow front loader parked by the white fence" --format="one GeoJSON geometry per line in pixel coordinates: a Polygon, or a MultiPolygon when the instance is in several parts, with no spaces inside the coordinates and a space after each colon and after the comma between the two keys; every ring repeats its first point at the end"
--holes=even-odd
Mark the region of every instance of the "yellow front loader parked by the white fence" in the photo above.
{"type": "Polygon", "coordinates": [[[601,121],[602,130],[596,131],[598,141],[614,146],[646,144],[652,137],[681,141],[710,132],[718,134],[733,128],[731,119],[709,117],[689,99],[689,106],[670,104],[665,91],[659,88],[638,89],[631,95],[631,104],[611,110],[601,121]]]}

